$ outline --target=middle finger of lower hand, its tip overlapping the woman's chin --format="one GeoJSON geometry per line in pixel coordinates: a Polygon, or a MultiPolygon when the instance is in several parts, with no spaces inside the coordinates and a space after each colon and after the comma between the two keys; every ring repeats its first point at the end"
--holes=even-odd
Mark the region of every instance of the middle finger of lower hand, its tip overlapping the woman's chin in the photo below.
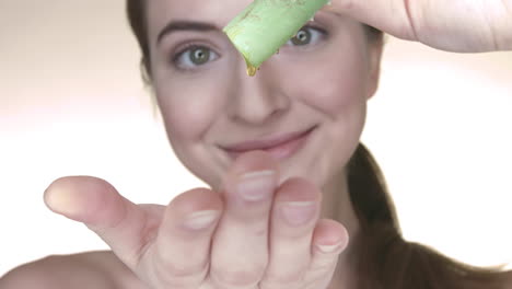
{"type": "Polygon", "coordinates": [[[254,288],[268,262],[268,221],[278,182],[261,151],[238,157],[224,180],[224,213],[213,238],[210,277],[217,288],[254,288]]]}

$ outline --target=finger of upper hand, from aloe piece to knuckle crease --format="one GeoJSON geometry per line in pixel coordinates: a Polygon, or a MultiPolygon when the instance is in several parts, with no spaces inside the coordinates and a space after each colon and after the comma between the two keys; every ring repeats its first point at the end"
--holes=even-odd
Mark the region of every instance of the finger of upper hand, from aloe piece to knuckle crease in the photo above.
{"type": "Polygon", "coordinates": [[[416,41],[411,3],[404,0],[333,0],[322,11],[349,15],[393,36],[416,41]]]}

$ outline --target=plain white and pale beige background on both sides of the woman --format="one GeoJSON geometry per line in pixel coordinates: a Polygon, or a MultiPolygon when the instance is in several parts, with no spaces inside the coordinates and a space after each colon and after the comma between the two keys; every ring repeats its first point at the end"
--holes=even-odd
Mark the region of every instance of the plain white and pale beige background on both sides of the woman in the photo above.
{"type": "MultiPolygon", "coordinates": [[[[106,248],[51,213],[63,175],[136,203],[201,185],[176,161],[138,71],[123,0],[0,1],[0,275],[106,248]]],[[[455,55],[389,38],[363,142],[405,236],[474,265],[512,262],[512,53],[455,55]]]]}

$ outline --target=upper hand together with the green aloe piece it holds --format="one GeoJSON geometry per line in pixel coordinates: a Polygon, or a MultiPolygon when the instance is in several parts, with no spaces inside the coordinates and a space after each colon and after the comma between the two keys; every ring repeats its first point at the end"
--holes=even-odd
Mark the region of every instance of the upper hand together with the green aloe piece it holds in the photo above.
{"type": "MultiPolygon", "coordinates": [[[[326,0],[255,0],[225,28],[249,74],[326,0]]],[[[512,49],[512,0],[333,0],[326,10],[398,38],[458,53],[512,49]]]]}

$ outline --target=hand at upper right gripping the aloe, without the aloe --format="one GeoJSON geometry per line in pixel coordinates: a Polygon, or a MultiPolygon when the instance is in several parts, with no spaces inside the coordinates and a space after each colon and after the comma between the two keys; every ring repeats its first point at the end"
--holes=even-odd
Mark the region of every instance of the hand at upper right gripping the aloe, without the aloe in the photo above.
{"type": "Polygon", "coordinates": [[[333,0],[325,10],[438,49],[512,49],[512,0],[333,0]]]}

